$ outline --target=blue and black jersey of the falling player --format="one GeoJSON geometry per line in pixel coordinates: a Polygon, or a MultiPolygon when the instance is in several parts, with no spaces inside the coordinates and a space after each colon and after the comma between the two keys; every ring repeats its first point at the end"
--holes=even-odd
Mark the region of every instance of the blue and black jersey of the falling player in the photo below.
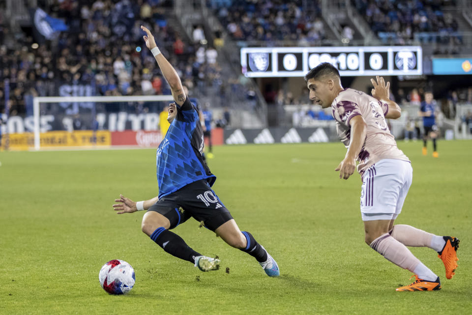
{"type": "Polygon", "coordinates": [[[204,136],[198,112],[188,97],[156,152],[159,198],[198,180],[211,187],[216,177],[203,158],[204,136]]]}

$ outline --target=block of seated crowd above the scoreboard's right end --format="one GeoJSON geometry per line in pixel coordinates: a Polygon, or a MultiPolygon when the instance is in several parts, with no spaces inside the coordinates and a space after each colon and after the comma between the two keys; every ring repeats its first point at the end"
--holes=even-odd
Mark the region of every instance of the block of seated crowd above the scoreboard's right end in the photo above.
{"type": "Polygon", "coordinates": [[[462,42],[454,16],[442,10],[454,0],[351,0],[372,31],[384,43],[405,45],[413,39],[423,43],[450,45],[441,53],[457,53],[462,42]]]}

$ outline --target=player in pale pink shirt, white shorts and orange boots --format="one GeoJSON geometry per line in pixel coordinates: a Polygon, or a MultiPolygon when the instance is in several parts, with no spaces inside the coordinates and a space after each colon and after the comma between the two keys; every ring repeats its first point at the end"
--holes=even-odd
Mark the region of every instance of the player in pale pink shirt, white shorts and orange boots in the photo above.
{"type": "Polygon", "coordinates": [[[398,149],[385,118],[397,119],[400,107],[389,99],[390,84],[377,76],[372,96],[344,89],[339,71],[321,63],[305,76],[310,99],[323,108],[332,107],[340,140],[348,151],[335,169],[339,178],[348,179],[356,169],[362,177],[360,210],[365,242],[392,263],[414,273],[413,284],[397,291],[441,289],[439,277],[419,261],[406,246],[429,247],[439,253],[451,279],[457,268],[459,240],[437,236],[394,221],[402,210],[412,184],[410,160],[398,149]]]}

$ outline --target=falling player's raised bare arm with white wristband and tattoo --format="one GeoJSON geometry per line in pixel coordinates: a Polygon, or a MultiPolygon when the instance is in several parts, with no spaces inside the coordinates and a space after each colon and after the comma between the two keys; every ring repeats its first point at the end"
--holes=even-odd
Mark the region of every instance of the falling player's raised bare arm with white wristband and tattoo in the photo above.
{"type": "Polygon", "coordinates": [[[183,92],[182,82],[180,81],[176,70],[172,64],[170,64],[161,54],[159,48],[157,48],[156,41],[154,40],[154,36],[152,36],[151,32],[144,26],[141,26],[141,30],[146,32],[147,35],[143,36],[146,42],[146,47],[148,47],[152,55],[154,55],[154,58],[156,59],[157,64],[164,75],[164,78],[166,78],[167,82],[169,83],[174,100],[176,101],[177,105],[181,106],[185,101],[186,95],[183,92]]]}

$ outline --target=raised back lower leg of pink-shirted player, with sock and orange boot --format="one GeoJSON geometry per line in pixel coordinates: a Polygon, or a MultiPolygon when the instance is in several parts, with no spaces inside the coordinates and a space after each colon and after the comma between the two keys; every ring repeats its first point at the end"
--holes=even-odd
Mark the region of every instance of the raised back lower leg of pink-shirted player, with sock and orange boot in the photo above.
{"type": "Polygon", "coordinates": [[[459,239],[451,236],[434,235],[405,224],[394,225],[390,235],[405,246],[428,247],[438,252],[438,256],[446,270],[446,278],[452,279],[455,274],[454,271],[458,267],[459,239]]]}

